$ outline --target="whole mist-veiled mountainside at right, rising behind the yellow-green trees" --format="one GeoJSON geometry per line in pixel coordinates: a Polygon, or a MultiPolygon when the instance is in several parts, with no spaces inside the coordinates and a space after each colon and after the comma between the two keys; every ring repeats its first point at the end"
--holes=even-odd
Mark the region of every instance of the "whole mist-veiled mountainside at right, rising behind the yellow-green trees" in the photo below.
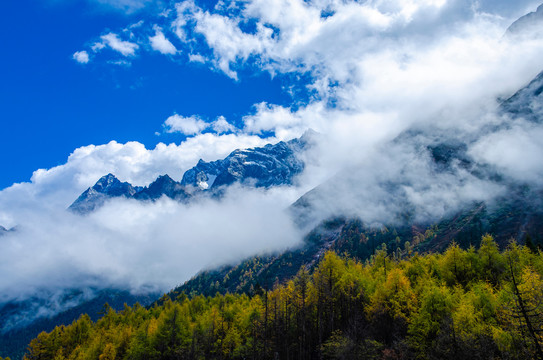
{"type": "Polygon", "coordinates": [[[269,290],[293,278],[301,267],[311,271],[328,250],[367,260],[384,248],[390,256],[401,258],[413,251],[443,252],[453,242],[463,248],[478,247],[485,234],[492,234],[502,248],[511,241],[543,247],[542,184],[509,177],[495,166],[478,162],[471,150],[492,133],[518,123],[541,122],[541,77],[540,73],[500,104],[495,114],[500,125],[485,125],[480,132],[463,136],[432,128],[400,134],[387,144],[388,149],[380,150],[380,166],[387,151],[399,144],[403,152],[394,151],[391,158],[405,160],[401,154],[413,153],[406,144],[416,147],[422,156],[405,161],[396,177],[364,188],[356,182],[368,184],[365,172],[378,165],[353,167],[292,204],[289,213],[306,233],[301,244],[282,253],[259,254],[237,264],[205,269],[169,296],[269,290]],[[410,176],[411,172],[415,174],[410,176]],[[432,178],[432,182],[421,184],[417,176],[432,178]],[[414,197],[415,192],[422,193],[414,197]],[[431,202],[416,201],[421,198],[431,202]]]}

